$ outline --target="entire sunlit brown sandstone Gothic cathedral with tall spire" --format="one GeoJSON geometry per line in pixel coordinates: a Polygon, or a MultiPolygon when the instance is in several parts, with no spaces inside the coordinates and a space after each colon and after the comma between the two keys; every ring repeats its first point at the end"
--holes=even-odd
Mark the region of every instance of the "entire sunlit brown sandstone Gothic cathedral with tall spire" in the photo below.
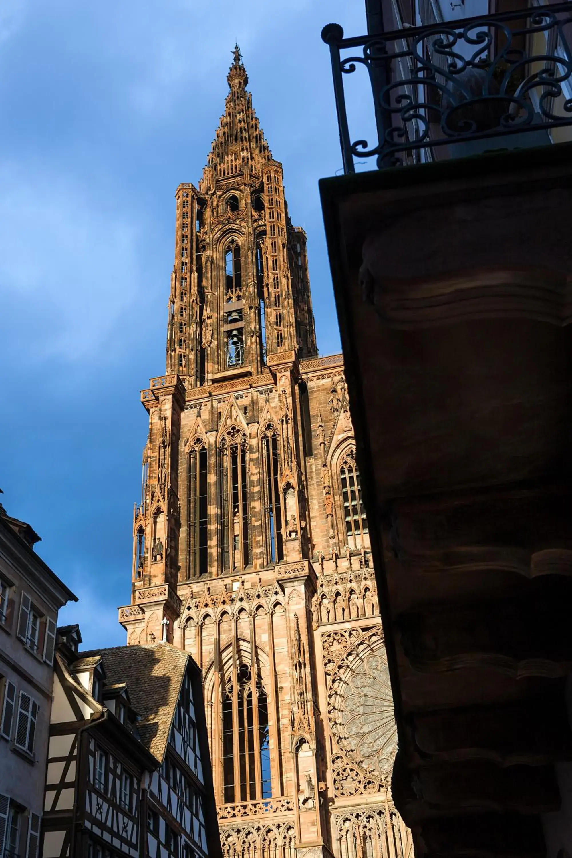
{"type": "Polygon", "coordinates": [[[177,189],[119,620],[202,668],[227,858],[409,858],[342,357],[317,356],[306,237],[247,82],[237,47],[198,190],[177,189]]]}

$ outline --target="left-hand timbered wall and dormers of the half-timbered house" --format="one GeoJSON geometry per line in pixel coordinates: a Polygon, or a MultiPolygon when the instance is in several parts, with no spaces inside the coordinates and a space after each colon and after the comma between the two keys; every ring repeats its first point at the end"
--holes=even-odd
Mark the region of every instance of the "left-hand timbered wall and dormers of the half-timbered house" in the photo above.
{"type": "Polygon", "coordinates": [[[108,680],[101,653],[78,655],[80,643],[76,625],[58,629],[41,855],[138,858],[142,786],[158,761],[127,684],[108,680]]]}

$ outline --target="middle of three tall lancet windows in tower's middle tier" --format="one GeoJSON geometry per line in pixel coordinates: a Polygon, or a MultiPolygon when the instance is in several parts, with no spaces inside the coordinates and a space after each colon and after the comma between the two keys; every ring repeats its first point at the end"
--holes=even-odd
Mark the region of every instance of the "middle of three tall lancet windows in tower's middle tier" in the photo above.
{"type": "Polygon", "coordinates": [[[219,448],[220,565],[223,571],[250,564],[248,520],[248,440],[231,426],[219,448]]]}

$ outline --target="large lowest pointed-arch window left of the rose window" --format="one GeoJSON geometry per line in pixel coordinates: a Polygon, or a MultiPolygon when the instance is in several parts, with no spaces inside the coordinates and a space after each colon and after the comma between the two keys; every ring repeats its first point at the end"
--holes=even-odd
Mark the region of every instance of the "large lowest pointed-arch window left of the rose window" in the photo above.
{"type": "Polygon", "coordinates": [[[268,698],[250,668],[225,682],[222,701],[224,801],[255,801],[272,795],[268,698]]]}

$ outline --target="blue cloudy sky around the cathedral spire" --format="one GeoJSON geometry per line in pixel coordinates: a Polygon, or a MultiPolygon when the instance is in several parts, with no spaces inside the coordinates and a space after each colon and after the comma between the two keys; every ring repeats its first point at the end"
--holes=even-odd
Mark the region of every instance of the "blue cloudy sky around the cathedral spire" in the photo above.
{"type": "Polygon", "coordinates": [[[0,487],[80,597],[60,621],[88,647],[125,639],[174,191],[201,177],[235,38],[308,233],[320,352],[340,349],[317,188],[341,166],[329,21],[363,33],[364,0],[3,0],[0,487]]]}

